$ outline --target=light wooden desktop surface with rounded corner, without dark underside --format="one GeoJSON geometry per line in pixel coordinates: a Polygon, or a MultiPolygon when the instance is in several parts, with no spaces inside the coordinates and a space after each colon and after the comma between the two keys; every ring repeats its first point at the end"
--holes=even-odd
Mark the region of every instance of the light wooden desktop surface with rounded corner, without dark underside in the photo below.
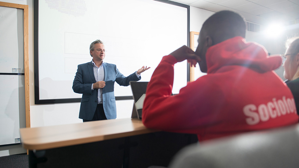
{"type": "Polygon", "coordinates": [[[157,130],[147,129],[139,119],[102,120],[20,129],[23,147],[29,150],[59,148],[152,132],[157,130]]]}

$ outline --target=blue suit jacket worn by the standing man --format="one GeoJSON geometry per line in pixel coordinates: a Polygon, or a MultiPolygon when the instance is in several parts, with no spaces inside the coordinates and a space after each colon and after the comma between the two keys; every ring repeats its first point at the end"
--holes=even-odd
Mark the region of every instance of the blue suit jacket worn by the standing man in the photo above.
{"type": "MultiPolygon", "coordinates": [[[[135,72],[125,77],[119,72],[115,64],[104,63],[104,81],[103,88],[103,107],[107,119],[116,118],[116,103],[114,97],[114,82],[121,86],[128,86],[130,81],[138,81],[135,72]]],[[[92,61],[78,65],[76,76],[73,82],[73,90],[76,93],[82,93],[79,118],[92,120],[95,109],[98,104],[98,89],[91,90],[91,85],[95,83],[92,61]]]]}

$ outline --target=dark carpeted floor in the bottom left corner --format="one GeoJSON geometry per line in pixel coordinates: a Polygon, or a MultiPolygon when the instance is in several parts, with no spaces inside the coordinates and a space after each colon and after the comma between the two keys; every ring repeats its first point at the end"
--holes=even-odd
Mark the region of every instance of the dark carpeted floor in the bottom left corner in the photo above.
{"type": "Polygon", "coordinates": [[[0,157],[0,168],[28,168],[27,154],[9,155],[0,157]]]}

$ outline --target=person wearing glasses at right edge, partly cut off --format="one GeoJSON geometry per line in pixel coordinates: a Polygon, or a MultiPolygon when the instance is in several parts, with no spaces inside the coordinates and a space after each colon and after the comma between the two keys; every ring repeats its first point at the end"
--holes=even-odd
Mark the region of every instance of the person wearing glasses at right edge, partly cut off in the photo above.
{"type": "Polygon", "coordinates": [[[285,58],[282,65],[284,68],[283,76],[287,79],[285,83],[294,96],[299,114],[299,37],[290,38],[286,46],[285,54],[282,55],[285,58]]]}

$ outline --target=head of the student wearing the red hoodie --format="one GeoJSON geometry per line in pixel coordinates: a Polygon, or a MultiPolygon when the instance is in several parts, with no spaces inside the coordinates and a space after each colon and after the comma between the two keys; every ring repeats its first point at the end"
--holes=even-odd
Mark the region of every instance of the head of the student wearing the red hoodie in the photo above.
{"type": "Polygon", "coordinates": [[[206,52],[210,46],[221,43],[230,38],[241,36],[245,38],[246,23],[239,14],[223,10],[210,16],[203,24],[195,54],[201,61],[198,61],[200,70],[207,72],[206,52]]]}

